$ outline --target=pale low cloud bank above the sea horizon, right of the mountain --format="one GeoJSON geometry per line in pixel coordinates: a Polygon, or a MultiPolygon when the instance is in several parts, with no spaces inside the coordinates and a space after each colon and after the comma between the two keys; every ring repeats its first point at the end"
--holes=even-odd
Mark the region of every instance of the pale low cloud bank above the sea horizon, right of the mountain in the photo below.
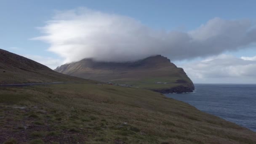
{"type": "Polygon", "coordinates": [[[181,67],[196,83],[255,83],[256,80],[256,61],[243,57],[221,54],[181,67]]]}

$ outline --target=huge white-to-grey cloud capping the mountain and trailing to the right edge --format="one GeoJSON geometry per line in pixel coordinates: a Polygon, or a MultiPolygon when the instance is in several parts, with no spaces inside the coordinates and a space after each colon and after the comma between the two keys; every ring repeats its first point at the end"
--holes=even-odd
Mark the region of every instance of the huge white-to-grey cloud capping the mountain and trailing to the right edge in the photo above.
{"type": "Polygon", "coordinates": [[[39,28],[43,40],[65,62],[94,58],[98,61],[134,61],[162,54],[171,60],[193,59],[236,51],[256,42],[249,20],[214,18],[188,31],[156,30],[127,16],[77,8],[59,11],[39,28]]]}

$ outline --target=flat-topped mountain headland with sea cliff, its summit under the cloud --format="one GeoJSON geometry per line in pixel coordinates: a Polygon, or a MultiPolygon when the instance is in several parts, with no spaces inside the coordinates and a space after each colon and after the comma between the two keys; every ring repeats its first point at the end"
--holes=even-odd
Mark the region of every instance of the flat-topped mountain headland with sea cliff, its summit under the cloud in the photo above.
{"type": "Polygon", "coordinates": [[[146,88],[161,93],[192,92],[194,85],[182,68],[161,55],[133,62],[102,62],[93,59],[64,64],[55,69],[66,75],[101,82],[146,88]]]}

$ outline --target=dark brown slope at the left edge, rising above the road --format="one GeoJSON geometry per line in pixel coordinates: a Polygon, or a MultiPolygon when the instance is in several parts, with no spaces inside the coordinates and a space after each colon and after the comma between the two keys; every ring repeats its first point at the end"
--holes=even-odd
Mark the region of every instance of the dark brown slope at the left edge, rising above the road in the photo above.
{"type": "Polygon", "coordinates": [[[0,84],[51,83],[81,80],[55,72],[31,59],[0,49],[0,84]]]}

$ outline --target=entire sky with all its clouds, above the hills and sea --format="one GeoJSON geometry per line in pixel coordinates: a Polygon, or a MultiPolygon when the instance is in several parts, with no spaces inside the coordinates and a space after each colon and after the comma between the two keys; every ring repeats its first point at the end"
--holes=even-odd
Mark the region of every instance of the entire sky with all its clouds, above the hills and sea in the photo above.
{"type": "Polygon", "coordinates": [[[51,69],[161,54],[194,83],[256,83],[255,0],[1,0],[0,48],[51,69]]]}

